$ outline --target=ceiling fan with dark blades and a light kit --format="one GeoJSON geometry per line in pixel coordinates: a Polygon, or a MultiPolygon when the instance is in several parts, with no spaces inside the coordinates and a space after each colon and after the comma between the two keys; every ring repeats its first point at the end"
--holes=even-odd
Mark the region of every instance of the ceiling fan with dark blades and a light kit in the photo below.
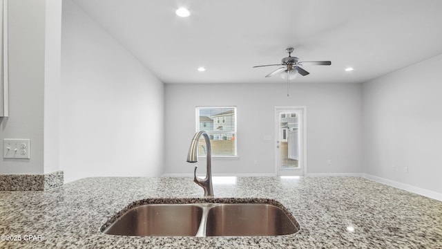
{"type": "Polygon", "coordinates": [[[271,77],[273,75],[276,75],[280,73],[282,78],[288,78],[288,79],[294,79],[296,75],[299,73],[302,76],[308,75],[309,72],[302,69],[300,66],[304,65],[325,65],[329,66],[332,64],[330,61],[311,61],[311,62],[299,62],[298,57],[291,56],[291,53],[293,53],[294,48],[287,48],[285,51],[289,53],[288,57],[284,57],[281,59],[280,64],[269,64],[269,65],[261,65],[261,66],[253,66],[253,68],[262,67],[262,66],[282,66],[275,71],[269,73],[265,77],[271,77]]]}

